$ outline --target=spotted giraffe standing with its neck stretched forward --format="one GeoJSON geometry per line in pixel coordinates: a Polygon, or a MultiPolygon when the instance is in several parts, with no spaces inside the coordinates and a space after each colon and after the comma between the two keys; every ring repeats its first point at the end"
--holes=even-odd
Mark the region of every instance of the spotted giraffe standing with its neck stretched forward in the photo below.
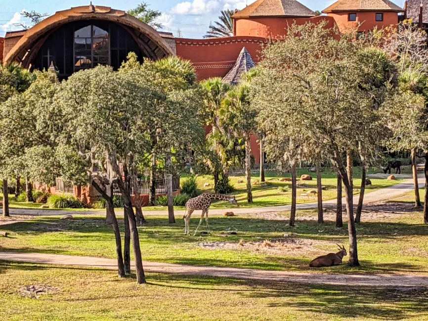
{"type": "Polygon", "coordinates": [[[196,232],[198,231],[199,227],[201,226],[202,223],[202,219],[204,218],[205,215],[205,222],[207,222],[207,229],[208,232],[211,233],[210,231],[210,226],[208,225],[208,210],[210,208],[211,205],[211,200],[213,199],[218,199],[221,201],[228,201],[234,205],[239,206],[238,202],[236,201],[235,196],[228,196],[228,195],[223,195],[223,194],[216,194],[216,193],[202,193],[199,196],[196,196],[194,198],[189,199],[186,202],[186,211],[184,212],[184,234],[186,235],[190,235],[190,230],[189,230],[189,222],[190,222],[190,216],[192,215],[193,211],[195,210],[202,210],[202,216],[201,216],[201,220],[199,221],[198,227],[195,229],[195,233],[193,234],[193,236],[196,235],[196,232]]]}

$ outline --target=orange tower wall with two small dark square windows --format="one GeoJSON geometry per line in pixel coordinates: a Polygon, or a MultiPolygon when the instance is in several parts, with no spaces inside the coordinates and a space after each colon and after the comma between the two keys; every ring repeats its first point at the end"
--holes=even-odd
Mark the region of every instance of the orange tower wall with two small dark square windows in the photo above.
{"type": "Polygon", "coordinates": [[[332,12],[328,16],[335,19],[339,30],[341,32],[348,32],[358,28],[358,24],[361,23],[361,26],[358,28],[358,31],[369,31],[373,30],[375,27],[382,29],[390,25],[396,25],[398,23],[398,13],[397,12],[382,12],[382,11],[366,11],[366,12],[354,12],[357,14],[357,21],[348,21],[348,14],[352,12],[332,12]],[[376,21],[376,13],[384,14],[384,21],[376,21]]]}

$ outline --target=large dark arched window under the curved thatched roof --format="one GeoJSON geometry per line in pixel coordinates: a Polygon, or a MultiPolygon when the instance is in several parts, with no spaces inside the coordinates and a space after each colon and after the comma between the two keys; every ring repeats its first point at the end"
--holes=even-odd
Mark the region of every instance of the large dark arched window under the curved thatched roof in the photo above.
{"type": "Polygon", "coordinates": [[[63,79],[97,65],[110,65],[118,69],[131,51],[142,62],[146,55],[125,28],[113,22],[97,20],[69,23],[47,37],[33,66],[43,70],[53,64],[63,79]]]}

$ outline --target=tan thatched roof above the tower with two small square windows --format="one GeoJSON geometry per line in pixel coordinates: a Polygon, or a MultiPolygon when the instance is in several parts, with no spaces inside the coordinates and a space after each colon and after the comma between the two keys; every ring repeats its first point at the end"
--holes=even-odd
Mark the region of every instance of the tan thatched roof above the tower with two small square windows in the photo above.
{"type": "Polygon", "coordinates": [[[395,3],[389,0],[339,0],[325,8],[322,12],[342,11],[392,11],[403,12],[395,3]]]}

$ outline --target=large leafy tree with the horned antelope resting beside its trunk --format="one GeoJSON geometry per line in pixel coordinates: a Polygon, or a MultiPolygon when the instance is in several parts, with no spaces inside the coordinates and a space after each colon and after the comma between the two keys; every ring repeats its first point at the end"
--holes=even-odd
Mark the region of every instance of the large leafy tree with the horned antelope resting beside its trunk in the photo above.
{"type": "Polygon", "coordinates": [[[356,141],[366,142],[372,135],[367,124],[380,122],[372,108],[373,92],[361,88],[364,72],[372,66],[360,61],[360,50],[354,34],[339,35],[326,29],[325,22],[294,24],[284,41],[264,48],[259,63],[264,70],[254,83],[267,135],[281,133],[275,148],[288,139],[288,150],[282,150],[292,151],[295,162],[309,156],[305,146],[316,147],[312,155],[322,152],[338,169],[345,187],[350,266],[359,262],[352,186],[342,152],[352,150],[356,141]]]}

